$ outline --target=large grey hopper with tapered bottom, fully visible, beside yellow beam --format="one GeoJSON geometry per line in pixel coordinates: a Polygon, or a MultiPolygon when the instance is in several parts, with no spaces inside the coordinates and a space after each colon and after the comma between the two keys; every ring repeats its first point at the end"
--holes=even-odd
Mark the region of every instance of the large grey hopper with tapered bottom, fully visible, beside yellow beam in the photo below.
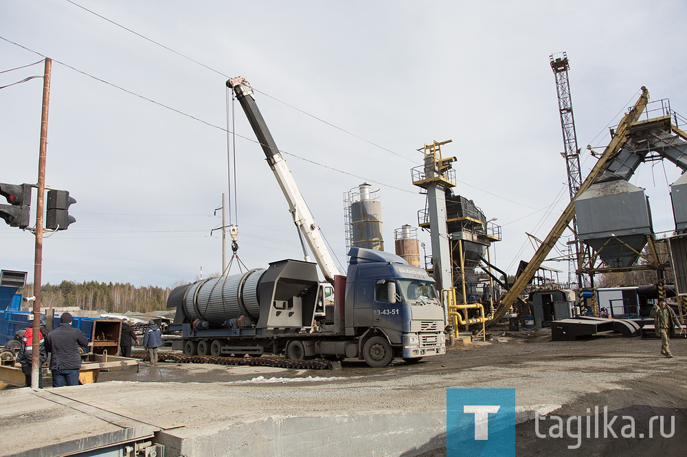
{"type": "Polygon", "coordinates": [[[596,183],[575,200],[581,241],[611,268],[633,266],[651,235],[644,189],[618,179],[596,183]]]}

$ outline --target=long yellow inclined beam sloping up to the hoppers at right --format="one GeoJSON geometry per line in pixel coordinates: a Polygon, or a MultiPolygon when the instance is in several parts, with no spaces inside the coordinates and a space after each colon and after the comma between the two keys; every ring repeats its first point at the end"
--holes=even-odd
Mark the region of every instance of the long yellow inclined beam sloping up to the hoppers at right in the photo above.
{"type": "MultiPolygon", "coordinates": [[[[629,129],[631,124],[633,124],[639,119],[640,115],[644,111],[644,108],[646,108],[646,104],[648,102],[649,91],[646,90],[646,87],[642,86],[642,95],[640,95],[639,99],[635,103],[635,106],[633,106],[633,108],[631,108],[631,110],[629,110],[629,112],[626,115],[624,115],[624,117],[620,121],[620,124],[618,124],[616,134],[613,135],[611,142],[607,145],[603,154],[601,154],[600,158],[596,162],[596,165],[594,165],[592,171],[589,172],[587,178],[584,180],[579,189],[577,189],[575,198],[577,198],[577,196],[580,196],[585,190],[589,189],[589,186],[594,184],[594,181],[596,181],[596,179],[603,174],[605,169],[608,167],[609,163],[611,163],[611,159],[613,159],[613,157],[616,156],[616,154],[618,154],[618,151],[620,151],[622,146],[627,141],[627,130],[629,129]]],[[[530,260],[530,263],[528,263],[527,268],[523,270],[520,276],[515,280],[515,283],[513,283],[513,286],[510,288],[510,290],[508,290],[508,293],[504,296],[504,298],[502,298],[502,301],[497,307],[491,322],[497,322],[497,320],[499,320],[500,318],[502,318],[502,316],[504,316],[504,314],[506,314],[508,308],[510,308],[513,305],[513,303],[515,303],[517,297],[525,289],[525,286],[530,282],[532,277],[534,277],[534,273],[537,272],[537,270],[541,266],[541,263],[544,261],[546,256],[551,252],[552,248],[554,247],[558,239],[561,237],[563,231],[565,231],[568,224],[570,224],[572,218],[574,218],[574,215],[575,200],[573,199],[570,200],[570,203],[567,204],[567,207],[565,207],[565,210],[561,214],[559,220],[556,221],[556,224],[553,226],[548,236],[541,243],[539,249],[537,249],[537,252],[534,253],[534,256],[532,257],[532,260],[530,260]]]]}

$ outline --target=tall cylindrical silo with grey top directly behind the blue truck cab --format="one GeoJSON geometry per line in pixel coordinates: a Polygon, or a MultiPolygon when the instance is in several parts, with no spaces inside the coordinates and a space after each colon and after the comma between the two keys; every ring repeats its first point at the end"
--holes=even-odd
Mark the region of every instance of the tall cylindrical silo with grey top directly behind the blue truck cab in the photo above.
{"type": "Polygon", "coordinates": [[[346,211],[350,224],[350,246],[384,250],[382,236],[382,204],[378,190],[364,183],[348,192],[346,211]]]}

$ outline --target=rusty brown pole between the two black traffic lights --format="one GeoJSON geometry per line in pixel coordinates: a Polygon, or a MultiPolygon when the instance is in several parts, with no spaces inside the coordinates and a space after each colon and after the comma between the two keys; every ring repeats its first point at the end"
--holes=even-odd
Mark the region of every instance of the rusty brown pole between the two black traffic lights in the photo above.
{"type": "MultiPolygon", "coordinates": [[[[36,200],[36,251],[34,255],[34,321],[33,348],[31,360],[31,388],[38,389],[41,379],[41,347],[40,338],[36,336],[41,331],[41,270],[43,266],[43,207],[45,204],[45,156],[47,152],[47,113],[50,100],[50,73],[52,60],[45,58],[45,75],[43,76],[43,110],[41,112],[41,145],[38,154],[38,196],[36,200]]],[[[47,316],[54,318],[53,316],[47,316]]]]}

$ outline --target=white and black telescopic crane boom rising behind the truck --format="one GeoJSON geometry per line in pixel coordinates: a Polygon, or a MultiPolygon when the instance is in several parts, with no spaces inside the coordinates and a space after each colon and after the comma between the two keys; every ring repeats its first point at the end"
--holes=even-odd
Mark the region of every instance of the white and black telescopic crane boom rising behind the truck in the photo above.
{"type": "Polygon", "coordinates": [[[260,147],[262,147],[262,151],[267,158],[267,163],[272,169],[274,177],[279,183],[279,187],[282,189],[286,202],[289,203],[289,211],[293,216],[293,222],[305,237],[308,247],[315,256],[317,265],[320,270],[322,270],[322,274],[324,274],[324,279],[334,284],[335,277],[341,276],[341,273],[337,269],[332,256],[324,244],[322,231],[320,231],[315,218],[311,214],[310,209],[308,209],[308,205],[293,179],[289,165],[286,165],[286,160],[282,156],[279,148],[277,148],[277,144],[272,138],[272,134],[269,132],[267,124],[265,124],[264,119],[262,119],[262,114],[260,114],[260,110],[256,104],[251,85],[245,78],[240,77],[228,80],[227,87],[232,89],[236,94],[236,98],[241,104],[251,124],[251,128],[253,128],[258,138],[260,147]]]}

